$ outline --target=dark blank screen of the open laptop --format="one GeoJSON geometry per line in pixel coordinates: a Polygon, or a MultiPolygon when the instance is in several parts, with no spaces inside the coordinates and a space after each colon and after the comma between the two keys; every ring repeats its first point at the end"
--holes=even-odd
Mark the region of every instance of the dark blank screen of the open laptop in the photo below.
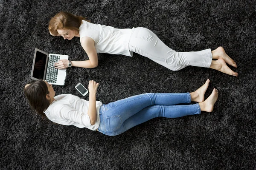
{"type": "Polygon", "coordinates": [[[33,69],[33,76],[37,79],[44,79],[44,71],[46,68],[46,59],[47,55],[41,53],[40,51],[36,51],[35,54],[35,64],[33,69]]]}

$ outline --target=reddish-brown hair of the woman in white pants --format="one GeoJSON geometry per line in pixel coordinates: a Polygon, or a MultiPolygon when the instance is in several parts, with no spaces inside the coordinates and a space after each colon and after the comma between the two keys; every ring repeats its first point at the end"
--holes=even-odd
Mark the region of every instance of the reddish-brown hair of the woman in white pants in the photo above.
{"type": "MultiPolygon", "coordinates": [[[[57,29],[72,29],[79,32],[82,20],[86,20],[84,17],[76,16],[68,12],[61,11],[56,14],[49,22],[49,31],[53,35],[58,35],[57,29]]],[[[86,20],[90,22],[89,20],[86,20]]]]}

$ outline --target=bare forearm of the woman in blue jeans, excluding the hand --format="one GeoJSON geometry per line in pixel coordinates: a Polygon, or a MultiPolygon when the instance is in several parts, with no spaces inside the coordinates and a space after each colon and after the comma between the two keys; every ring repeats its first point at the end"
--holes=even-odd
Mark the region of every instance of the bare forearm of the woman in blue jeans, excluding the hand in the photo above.
{"type": "Polygon", "coordinates": [[[97,110],[96,110],[96,94],[89,94],[89,108],[88,108],[88,116],[90,117],[91,125],[94,125],[97,120],[97,110]]]}

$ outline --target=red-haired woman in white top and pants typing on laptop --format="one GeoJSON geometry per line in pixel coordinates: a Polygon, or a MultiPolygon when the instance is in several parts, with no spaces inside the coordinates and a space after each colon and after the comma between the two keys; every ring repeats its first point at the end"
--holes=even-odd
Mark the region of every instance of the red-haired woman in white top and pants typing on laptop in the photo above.
{"type": "Polygon", "coordinates": [[[122,54],[132,57],[135,52],[172,71],[192,65],[238,76],[238,73],[227,66],[229,64],[236,68],[236,62],[226,54],[222,47],[213,51],[206,49],[176,52],[147,28],[117,29],[111,26],[96,25],[83,17],[61,11],[50,20],[49,32],[53,36],[64,37],[64,40],[80,37],[81,45],[89,57],[89,60],[85,61],[62,59],[55,63],[55,68],[58,69],[71,66],[95,68],[98,66],[97,53],[122,54]]]}

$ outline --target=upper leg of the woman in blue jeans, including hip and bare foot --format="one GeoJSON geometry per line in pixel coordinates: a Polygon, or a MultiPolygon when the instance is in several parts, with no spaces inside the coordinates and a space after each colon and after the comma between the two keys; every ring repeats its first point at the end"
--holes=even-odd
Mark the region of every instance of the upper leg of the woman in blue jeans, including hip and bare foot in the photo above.
{"type": "MultiPolygon", "coordinates": [[[[141,94],[103,105],[100,115],[100,128],[104,134],[115,135],[122,131],[123,122],[151,105],[171,106],[180,103],[202,102],[209,85],[209,79],[195,92],[185,94],[141,94]]],[[[177,106],[178,107],[178,106],[177,106]]],[[[168,108],[168,107],[166,107],[168,108]]],[[[171,108],[171,107],[170,107],[171,108]]],[[[176,113],[175,113],[176,114],[176,113]]]]}

